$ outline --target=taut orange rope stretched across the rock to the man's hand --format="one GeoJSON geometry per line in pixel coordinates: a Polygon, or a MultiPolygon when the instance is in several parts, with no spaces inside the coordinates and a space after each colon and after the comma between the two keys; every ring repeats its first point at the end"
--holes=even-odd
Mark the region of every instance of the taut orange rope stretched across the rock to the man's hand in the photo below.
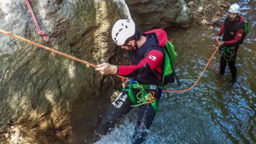
{"type": "MultiPolygon", "coordinates": [[[[41,47],[41,48],[43,48],[43,49],[45,49],[45,50],[48,50],[48,51],[51,51],[51,52],[54,52],[54,53],[63,55],[64,57],[67,57],[67,58],[69,58],[69,59],[73,59],[73,60],[82,62],[82,63],[84,63],[84,64],[86,64],[86,65],[89,65],[89,66],[91,66],[91,67],[97,68],[97,66],[93,65],[92,63],[89,63],[89,62],[87,62],[87,61],[83,61],[83,60],[81,60],[81,59],[77,59],[77,58],[75,58],[75,57],[72,57],[71,55],[68,55],[68,54],[66,54],[66,53],[59,52],[59,51],[57,51],[57,50],[51,49],[51,48],[46,47],[46,46],[44,46],[44,45],[41,45],[41,44],[38,44],[38,43],[35,43],[35,42],[32,42],[32,41],[29,41],[29,40],[26,39],[26,38],[23,38],[23,37],[14,35],[14,34],[12,34],[12,33],[9,33],[9,32],[7,32],[7,31],[2,30],[2,29],[0,29],[0,33],[3,33],[3,34],[5,34],[5,35],[9,35],[9,36],[11,36],[11,37],[20,39],[21,41],[24,41],[24,42],[33,44],[33,45],[38,46],[38,47],[41,47]]],[[[118,76],[118,75],[115,75],[115,76],[120,77],[120,78],[123,78],[122,76],[118,76]]]]}

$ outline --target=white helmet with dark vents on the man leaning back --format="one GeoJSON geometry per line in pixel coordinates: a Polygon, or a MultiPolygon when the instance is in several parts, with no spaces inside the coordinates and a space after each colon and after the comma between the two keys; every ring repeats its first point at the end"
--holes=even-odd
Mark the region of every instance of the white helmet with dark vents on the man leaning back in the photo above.
{"type": "Polygon", "coordinates": [[[117,45],[123,45],[134,34],[135,23],[132,20],[120,19],[112,28],[112,39],[117,45]]]}

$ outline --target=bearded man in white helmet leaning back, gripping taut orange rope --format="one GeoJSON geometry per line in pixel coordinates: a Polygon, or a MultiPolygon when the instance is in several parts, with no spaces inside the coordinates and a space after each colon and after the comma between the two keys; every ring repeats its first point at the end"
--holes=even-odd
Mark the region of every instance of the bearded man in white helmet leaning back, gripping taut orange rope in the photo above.
{"type": "Polygon", "coordinates": [[[111,103],[107,114],[102,118],[98,134],[107,134],[120,118],[135,107],[133,103],[140,99],[142,104],[137,105],[138,120],[132,143],[141,143],[145,140],[147,130],[157,113],[158,102],[162,94],[159,82],[163,78],[164,50],[158,45],[163,41],[167,42],[167,34],[161,29],[159,33],[163,37],[157,37],[155,33],[141,34],[132,20],[116,21],[111,32],[112,38],[122,49],[129,50],[131,65],[116,66],[102,63],[95,70],[100,71],[102,75],[115,74],[129,77],[129,79],[116,100],[111,103]],[[142,97],[149,99],[142,100],[142,97]]]}

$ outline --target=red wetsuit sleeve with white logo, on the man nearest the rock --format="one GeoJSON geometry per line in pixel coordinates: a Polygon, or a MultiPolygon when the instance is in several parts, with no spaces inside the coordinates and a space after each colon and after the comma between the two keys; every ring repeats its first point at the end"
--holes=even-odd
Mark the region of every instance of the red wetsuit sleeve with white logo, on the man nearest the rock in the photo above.
{"type": "Polygon", "coordinates": [[[141,60],[138,65],[118,66],[117,75],[126,77],[142,77],[150,71],[161,66],[163,61],[163,53],[158,50],[151,50],[148,55],[141,60]]]}

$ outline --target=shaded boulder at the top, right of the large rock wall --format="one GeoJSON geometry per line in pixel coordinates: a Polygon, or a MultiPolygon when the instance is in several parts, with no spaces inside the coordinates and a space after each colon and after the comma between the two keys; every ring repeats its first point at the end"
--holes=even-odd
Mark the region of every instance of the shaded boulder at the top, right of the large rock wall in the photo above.
{"type": "Polygon", "coordinates": [[[171,26],[189,27],[193,12],[183,0],[125,0],[141,31],[171,26]]]}

